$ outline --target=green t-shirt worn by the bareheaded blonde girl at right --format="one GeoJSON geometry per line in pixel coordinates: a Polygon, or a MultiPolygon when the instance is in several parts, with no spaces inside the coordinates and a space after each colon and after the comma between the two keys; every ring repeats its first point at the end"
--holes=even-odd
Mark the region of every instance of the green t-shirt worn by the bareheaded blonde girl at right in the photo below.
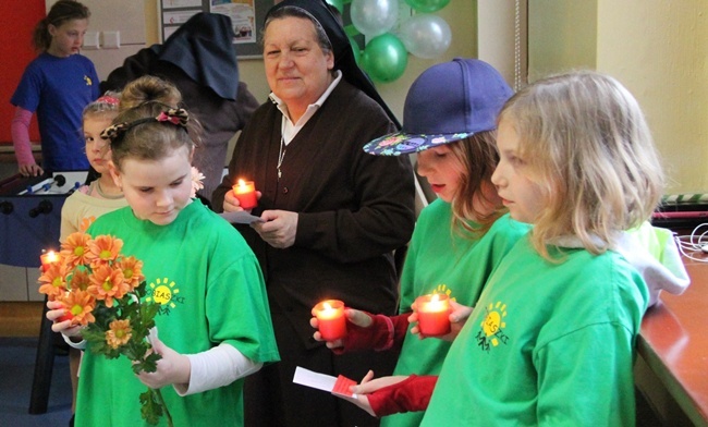
{"type": "Polygon", "coordinates": [[[422,426],[632,426],[634,343],[648,291],[619,254],[522,239],[445,358],[422,426]]]}

